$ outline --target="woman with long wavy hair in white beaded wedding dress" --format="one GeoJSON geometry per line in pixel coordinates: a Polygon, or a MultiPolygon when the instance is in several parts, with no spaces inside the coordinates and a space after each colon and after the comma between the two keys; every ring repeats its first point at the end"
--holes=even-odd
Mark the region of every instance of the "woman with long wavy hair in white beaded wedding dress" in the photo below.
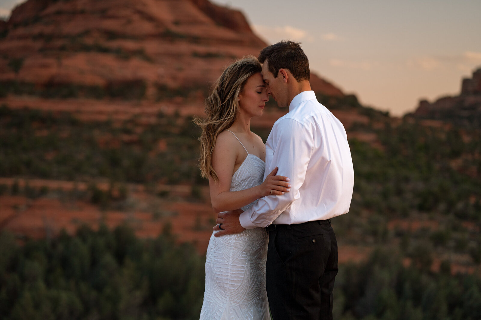
{"type": "MultiPolygon", "coordinates": [[[[205,100],[206,119],[195,120],[202,128],[199,167],[209,179],[215,212],[246,210],[260,197],[290,191],[289,179],[275,175],[277,168],[263,182],[266,147],[250,129],[251,118],[261,116],[269,100],[261,71],[252,56],[229,65],[205,100]]],[[[200,319],[270,319],[266,256],[264,228],[221,237],[213,234],[200,319]]]]}

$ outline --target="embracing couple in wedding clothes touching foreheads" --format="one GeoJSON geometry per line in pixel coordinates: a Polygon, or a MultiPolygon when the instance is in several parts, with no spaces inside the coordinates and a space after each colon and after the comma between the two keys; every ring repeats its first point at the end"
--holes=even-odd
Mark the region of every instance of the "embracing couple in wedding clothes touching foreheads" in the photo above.
{"type": "Polygon", "coordinates": [[[330,219],[349,210],[354,171],[342,123],[309,83],[299,43],[232,63],[206,99],[200,168],[218,214],[202,320],[332,319],[338,272],[330,219]],[[266,145],[251,132],[272,96],[289,112],[266,145]]]}

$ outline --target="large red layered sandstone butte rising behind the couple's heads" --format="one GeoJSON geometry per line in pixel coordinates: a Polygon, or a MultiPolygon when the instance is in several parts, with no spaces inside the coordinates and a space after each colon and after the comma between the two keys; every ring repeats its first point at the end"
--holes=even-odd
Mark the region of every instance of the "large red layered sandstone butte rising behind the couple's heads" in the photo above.
{"type": "MultiPolygon", "coordinates": [[[[28,0],[0,22],[0,82],[143,81],[153,101],[159,87],[206,90],[230,62],[265,46],[240,11],[208,0],[28,0]]],[[[315,91],[343,96],[311,77],[315,91]]]]}

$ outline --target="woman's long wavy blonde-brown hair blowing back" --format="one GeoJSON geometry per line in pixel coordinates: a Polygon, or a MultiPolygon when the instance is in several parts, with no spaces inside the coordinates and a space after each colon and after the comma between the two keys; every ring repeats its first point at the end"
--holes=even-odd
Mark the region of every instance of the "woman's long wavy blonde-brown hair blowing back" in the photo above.
{"type": "Polygon", "coordinates": [[[205,99],[204,119],[195,118],[194,123],[201,127],[201,156],[199,168],[203,178],[212,177],[218,181],[212,167],[212,152],[217,135],[230,127],[236,120],[239,110],[239,94],[247,79],[262,71],[260,62],[253,56],[246,56],[229,65],[215,82],[212,93],[205,99]]]}

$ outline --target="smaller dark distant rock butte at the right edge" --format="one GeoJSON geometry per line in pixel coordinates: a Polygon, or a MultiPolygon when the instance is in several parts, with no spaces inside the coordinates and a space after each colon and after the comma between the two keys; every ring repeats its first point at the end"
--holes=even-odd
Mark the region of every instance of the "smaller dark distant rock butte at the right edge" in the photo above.
{"type": "Polygon", "coordinates": [[[472,78],[463,79],[458,96],[439,98],[433,103],[420,100],[412,115],[481,128],[481,68],[473,72],[472,78]]]}

